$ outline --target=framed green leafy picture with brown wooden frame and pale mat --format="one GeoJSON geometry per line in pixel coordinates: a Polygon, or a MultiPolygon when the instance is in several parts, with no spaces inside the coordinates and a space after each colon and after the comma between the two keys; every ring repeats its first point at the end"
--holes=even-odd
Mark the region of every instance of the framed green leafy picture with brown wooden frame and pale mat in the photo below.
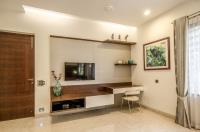
{"type": "Polygon", "coordinates": [[[170,69],[170,38],[144,44],[144,70],[170,69]]]}

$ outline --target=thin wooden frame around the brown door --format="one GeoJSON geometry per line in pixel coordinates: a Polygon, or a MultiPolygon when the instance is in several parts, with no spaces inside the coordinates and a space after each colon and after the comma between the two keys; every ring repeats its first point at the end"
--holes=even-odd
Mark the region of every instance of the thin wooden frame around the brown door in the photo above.
{"type": "Polygon", "coordinates": [[[31,36],[33,37],[33,80],[34,80],[34,84],[33,84],[33,116],[35,117],[35,34],[34,33],[26,33],[26,32],[18,32],[18,31],[11,31],[11,30],[1,30],[0,32],[3,33],[9,33],[9,34],[18,34],[18,35],[25,35],[25,36],[31,36]]]}

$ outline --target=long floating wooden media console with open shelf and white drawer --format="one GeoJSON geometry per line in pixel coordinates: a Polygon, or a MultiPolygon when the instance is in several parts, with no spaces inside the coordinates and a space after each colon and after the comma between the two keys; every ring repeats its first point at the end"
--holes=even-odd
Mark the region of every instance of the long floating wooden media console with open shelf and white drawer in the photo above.
{"type": "MultiPolygon", "coordinates": [[[[114,105],[114,94],[131,88],[131,82],[70,85],[63,86],[63,94],[60,97],[53,96],[51,90],[51,115],[77,113],[114,105]]],[[[142,90],[141,86],[134,88],[142,90]]]]}

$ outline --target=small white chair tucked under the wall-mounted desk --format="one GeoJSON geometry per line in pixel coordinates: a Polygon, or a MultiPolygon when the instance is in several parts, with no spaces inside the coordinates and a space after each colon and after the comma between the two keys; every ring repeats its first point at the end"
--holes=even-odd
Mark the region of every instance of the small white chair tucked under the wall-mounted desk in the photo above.
{"type": "Polygon", "coordinates": [[[131,105],[133,107],[133,103],[138,103],[139,104],[139,110],[141,109],[141,91],[140,90],[131,90],[131,91],[126,91],[124,93],[124,96],[122,96],[122,102],[121,102],[121,109],[124,104],[124,101],[128,102],[128,107],[129,111],[131,112],[131,105]]]}

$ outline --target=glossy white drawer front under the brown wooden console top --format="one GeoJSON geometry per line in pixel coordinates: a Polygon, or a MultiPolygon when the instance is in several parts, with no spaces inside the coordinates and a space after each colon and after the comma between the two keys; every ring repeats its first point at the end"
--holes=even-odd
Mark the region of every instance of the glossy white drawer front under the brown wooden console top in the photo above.
{"type": "Polygon", "coordinates": [[[98,95],[85,98],[86,108],[100,107],[114,104],[114,95],[98,95]]]}

